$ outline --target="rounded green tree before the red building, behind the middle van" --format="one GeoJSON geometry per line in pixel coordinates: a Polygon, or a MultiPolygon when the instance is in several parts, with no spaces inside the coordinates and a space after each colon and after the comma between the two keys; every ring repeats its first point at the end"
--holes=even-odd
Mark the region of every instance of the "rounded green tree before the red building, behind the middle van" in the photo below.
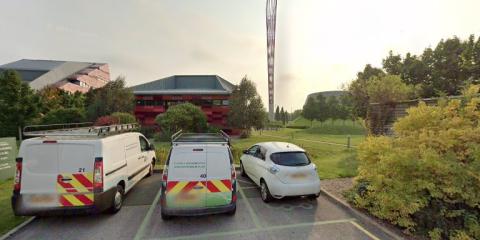
{"type": "Polygon", "coordinates": [[[162,131],[169,133],[183,130],[184,132],[205,132],[207,117],[200,107],[191,103],[171,106],[155,119],[162,131]]]}

